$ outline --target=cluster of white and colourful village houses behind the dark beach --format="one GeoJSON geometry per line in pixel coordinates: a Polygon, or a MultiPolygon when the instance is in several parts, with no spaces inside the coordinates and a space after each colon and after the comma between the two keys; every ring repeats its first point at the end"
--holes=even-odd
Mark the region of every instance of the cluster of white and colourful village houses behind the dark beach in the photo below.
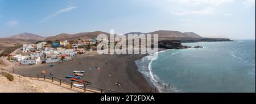
{"type": "Polygon", "coordinates": [[[98,43],[104,39],[82,38],[76,41],[38,41],[36,44],[23,44],[22,52],[10,54],[8,60],[18,65],[34,65],[44,63],[64,63],[72,61],[72,56],[96,50],[98,43]]]}

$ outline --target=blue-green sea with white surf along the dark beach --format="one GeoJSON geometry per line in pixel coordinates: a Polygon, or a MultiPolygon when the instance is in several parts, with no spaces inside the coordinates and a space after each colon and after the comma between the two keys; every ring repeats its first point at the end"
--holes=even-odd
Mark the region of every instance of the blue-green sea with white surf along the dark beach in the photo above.
{"type": "Polygon", "coordinates": [[[139,72],[161,92],[255,93],[255,40],[183,45],[204,48],[171,49],[155,60],[144,57],[135,61],[139,72]]]}

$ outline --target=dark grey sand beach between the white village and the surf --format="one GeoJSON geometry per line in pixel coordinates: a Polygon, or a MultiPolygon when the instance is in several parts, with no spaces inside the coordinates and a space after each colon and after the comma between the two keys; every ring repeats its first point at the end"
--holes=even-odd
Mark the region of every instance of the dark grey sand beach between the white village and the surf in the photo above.
{"type": "Polygon", "coordinates": [[[69,81],[65,78],[66,75],[73,75],[74,70],[84,70],[85,76],[82,80],[92,82],[93,87],[144,93],[150,92],[152,85],[147,82],[142,73],[138,72],[134,62],[144,56],[146,55],[79,55],[73,57],[73,61],[55,63],[53,67],[49,64],[15,66],[14,72],[37,75],[41,74],[42,70],[46,70],[46,76],[53,73],[53,76],[69,81]],[[97,69],[96,66],[101,69],[97,69]]]}

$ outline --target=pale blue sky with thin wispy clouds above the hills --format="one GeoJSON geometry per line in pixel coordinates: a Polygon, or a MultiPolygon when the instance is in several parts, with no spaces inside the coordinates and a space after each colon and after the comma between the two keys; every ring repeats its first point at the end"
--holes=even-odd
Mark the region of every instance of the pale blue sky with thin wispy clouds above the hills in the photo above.
{"type": "Polygon", "coordinates": [[[110,29],[255,39],[255,0],[0,0],[0,37],[110,29]]]}

